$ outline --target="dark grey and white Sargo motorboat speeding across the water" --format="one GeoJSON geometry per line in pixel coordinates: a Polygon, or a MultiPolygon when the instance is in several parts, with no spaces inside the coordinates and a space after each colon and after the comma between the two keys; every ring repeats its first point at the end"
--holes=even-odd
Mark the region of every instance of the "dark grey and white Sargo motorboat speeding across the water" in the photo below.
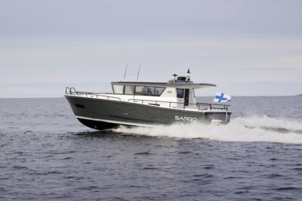
{"type": "Polygon", "coordinates": [[[112,93],[65,88],[75,117],[85,126],[105,130],[123,126],[157,127],[174,123],[229,123],[230,105],[196,102],[195,89],[215,87],[173,75],[168,82],[111,82],[112,93]]]}

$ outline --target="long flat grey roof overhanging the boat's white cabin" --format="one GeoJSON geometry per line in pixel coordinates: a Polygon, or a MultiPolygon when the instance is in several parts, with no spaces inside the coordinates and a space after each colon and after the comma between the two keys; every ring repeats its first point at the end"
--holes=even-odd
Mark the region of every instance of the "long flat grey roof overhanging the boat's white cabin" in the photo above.
{"type": "Polygon", "coordinates": [[[130,82],[130,81],[118,81],[111,82],[111,84],[118,85],[137,85],[137,86],[155,86],[155,87],[177,87],[177,88],[207,88],[216,86],[216,84],[210,83],[192,83],[192,82],[130,82]]]}

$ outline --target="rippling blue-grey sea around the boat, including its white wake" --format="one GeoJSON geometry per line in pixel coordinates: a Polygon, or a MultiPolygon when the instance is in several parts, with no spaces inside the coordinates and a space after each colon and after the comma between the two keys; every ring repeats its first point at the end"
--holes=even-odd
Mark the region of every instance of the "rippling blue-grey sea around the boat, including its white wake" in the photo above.
{"type": "Polygon", "coordinates": [[[232,102],[226,126],[99,132],[64,98],[0,99],[0,200],[301,200],[302,96],[232,102]]]}

